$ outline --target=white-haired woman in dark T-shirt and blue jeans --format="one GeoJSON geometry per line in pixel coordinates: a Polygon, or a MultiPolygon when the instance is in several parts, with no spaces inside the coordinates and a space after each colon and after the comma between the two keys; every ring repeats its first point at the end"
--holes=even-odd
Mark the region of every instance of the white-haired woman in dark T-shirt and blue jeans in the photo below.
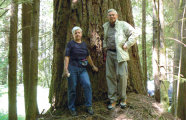
{"type": "Polygon", "coordinates": [[[74,40],[68,42],[64,60],[64,76],[68,77],[68,108],[71,115],[77,115],[75,99],[76,86],[79,81],[84,91],[86,111],[93,115],[92,88],[86,66],[89,63],[96,72],[98,68],[94,65],[85,42],[81,40],[82,29],[76,26],[72,29],[72,34],[74,40]]]}

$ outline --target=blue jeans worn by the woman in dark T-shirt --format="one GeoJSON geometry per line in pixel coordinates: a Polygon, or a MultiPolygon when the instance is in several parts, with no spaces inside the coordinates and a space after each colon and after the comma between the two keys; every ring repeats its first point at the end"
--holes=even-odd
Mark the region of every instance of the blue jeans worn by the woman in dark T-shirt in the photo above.
{"type": "Polygon", "coordinates": [[[83,87],[85,106],[92,106],[92,88],[86,68],[69,65],[70,77],[68,77],[68,108],[75,110],[76,86],[79,81],[83,87]]]}

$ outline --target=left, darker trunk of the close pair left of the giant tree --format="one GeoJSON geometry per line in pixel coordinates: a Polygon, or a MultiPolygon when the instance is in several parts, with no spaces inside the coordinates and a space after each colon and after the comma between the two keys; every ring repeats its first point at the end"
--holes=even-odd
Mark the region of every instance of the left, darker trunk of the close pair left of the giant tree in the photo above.
{"type": "Polygon", "coordinates": [[[30,39],[31,39],[31,15],[32,4],[22,4],[22,61],[23,61],[23,82],[24,82],[24,99],[25,113],[28,106],[28,91],[29,91],[29,65],[30,65],[30,39]]]}

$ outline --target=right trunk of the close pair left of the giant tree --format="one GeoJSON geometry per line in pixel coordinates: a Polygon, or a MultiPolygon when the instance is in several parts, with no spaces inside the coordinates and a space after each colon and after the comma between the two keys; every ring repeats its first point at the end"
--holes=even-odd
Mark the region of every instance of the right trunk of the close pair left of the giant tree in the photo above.
{"type": "Polygon", "coordinates": [[[31,19],[31,41],[30,41],[30,80],[29,96],[26,120],[35,120],[38,115],[37,107],[37,82],[38,82],[38,39],[39,39],[39,10],[40,0],[33,0],[31,19]]]}

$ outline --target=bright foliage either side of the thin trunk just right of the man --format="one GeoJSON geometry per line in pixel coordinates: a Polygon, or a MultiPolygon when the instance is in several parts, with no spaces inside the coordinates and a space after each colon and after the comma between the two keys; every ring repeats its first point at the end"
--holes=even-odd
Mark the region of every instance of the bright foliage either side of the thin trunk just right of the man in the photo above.
{"type": "MultiPolygon", "coordinates": [[[[132,0],[132,9],[136,29],[142,33],[142,1],[132,0]]],[[[142,38],[138,39],[138,52],[142,65],[142,38]]],[[[152,3],[147,0],[146,7],[146,56],[147,56],[147,79],[152,80],[152,3]]]]}

